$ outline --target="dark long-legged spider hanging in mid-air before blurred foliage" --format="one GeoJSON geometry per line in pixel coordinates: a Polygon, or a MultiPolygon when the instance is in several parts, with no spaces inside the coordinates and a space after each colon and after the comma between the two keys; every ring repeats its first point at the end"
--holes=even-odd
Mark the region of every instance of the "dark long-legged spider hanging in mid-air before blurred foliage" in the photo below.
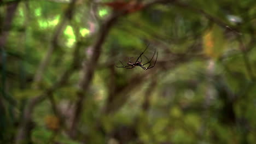
{"type": "MultiPolygon", "coordinates": [[[[149,45],[148,45],[148,46],[149,46],[149,45]]],[[[144,70],[153,68],[153,67],[155,66],[156,60],[158,59],[158,52],[156,52],[156,59],[155,59],[154,65],[151,66],[151,61],[152,61],[152,59],[153,59],[154,56],[155,56],[155,52],[154,52],[153,57],[150,59],[150,61],[149,61],[149,59],[148,59],[146,56],[144,56],[144,57],[147,58],[148,62],[142,64],[142,58],[141,58],[141,56],[142,56],[143,53],[148,49],[148,46],[147,46],[146,49],[141,53],[141,55],[139,55],[139,57],[137,58],[137,60],[136,60],[135,63],[133,63],[133,62],[130,61],[130,58],[133,58],[133,57],[129,57],[129,61],[128,61],[127,65],[124,65],[121,61],[119,61],[123,66],[118,67],[117,65],[115,65],[115,67],[117,67],[117,68],[126,68],[126,69],[133,69],[133,68],[135,68],[136,66],[139,66],[139,67],[141,67],[141,68],[144,69],[144,70]],[[139,58],[141,58],[141,61],[138,61],[139,58]],[[148,63],[149,63],[148,67],[144,67],[144,65],[146,65],[146,64],[148,64],[148,63]],[[151,66],[151,67],[150,67],[150,66],[151,66]],[[130,67],[130,68],[129,68],[129,67],[130,67]]]]}

